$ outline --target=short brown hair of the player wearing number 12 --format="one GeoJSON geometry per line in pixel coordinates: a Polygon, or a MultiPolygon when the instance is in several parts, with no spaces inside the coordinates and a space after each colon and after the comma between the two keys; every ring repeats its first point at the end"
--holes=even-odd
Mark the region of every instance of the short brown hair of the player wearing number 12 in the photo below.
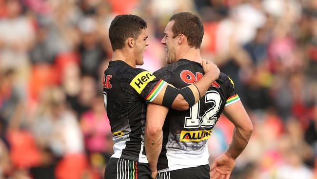
{"type": "Polygon", "coordinates": [[[204,27],[198,16],[190,12],[180,12],[173,15],[169,21],[175,21],[172,26],[173,38],[184,34],[190,47],[200,48],[204,27]]]}

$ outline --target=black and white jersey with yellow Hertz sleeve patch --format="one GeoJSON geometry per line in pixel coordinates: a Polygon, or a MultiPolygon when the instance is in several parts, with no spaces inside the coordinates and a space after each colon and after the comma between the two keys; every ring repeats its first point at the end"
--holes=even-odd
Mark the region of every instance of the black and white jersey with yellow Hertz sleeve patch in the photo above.
{"type": "Polygon", "coordinates": [[[112,157],[148,163],[144,152],[146,101],[153,101],[166,82],[151,72],[111,61],[104,71],[103,96],[113,133],[112,157]]]}

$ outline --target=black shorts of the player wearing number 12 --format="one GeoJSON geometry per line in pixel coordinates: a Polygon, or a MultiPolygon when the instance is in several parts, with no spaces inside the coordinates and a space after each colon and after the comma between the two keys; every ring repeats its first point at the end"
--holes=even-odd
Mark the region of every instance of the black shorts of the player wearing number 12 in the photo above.
{"type": "Polygon", "coordinates": [[[183,168],[158,174],[158,179],[209,179],[209,165],[183,168]]]}

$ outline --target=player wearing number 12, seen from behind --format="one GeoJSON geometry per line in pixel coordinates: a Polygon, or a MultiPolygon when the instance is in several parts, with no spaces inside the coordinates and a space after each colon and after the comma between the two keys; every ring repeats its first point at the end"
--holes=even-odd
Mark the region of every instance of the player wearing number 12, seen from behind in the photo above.
{"type": "MultiPolygon", "coordinates": [[[[161,44],[167,49],[166,62],[170,65],[154,75],[180,89],[200,81],[206,75],[200,66],[199,48],[204,34],[200,19],[188,12],[175,14],[164,34],[161,44]]],[[[187,111],[148,105],[145,150],[152,178],[229,179],[253,126],[233,81],[226,74],[220,72],[219,78],[201,95],[198,103],[187,111]],[[207,141],[221,112],[235,125],[235,130],[230,147],[210,168],[207,141]]]]}

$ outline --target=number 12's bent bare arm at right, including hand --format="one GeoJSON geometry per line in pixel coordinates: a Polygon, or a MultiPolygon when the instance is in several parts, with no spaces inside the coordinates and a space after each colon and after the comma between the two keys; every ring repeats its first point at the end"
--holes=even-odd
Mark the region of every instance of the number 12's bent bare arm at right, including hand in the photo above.
{"type": "Polygon", "coordinates": [[[216,158],[210,167],[210,178],[218,179],[221,176],[229,179],[235,166],[236,158],[247,146],[253,131],[250,117],[245,111],[241,101],[237,101],[224,108],[226,117],[235,125],[232,142],[226,153],[216,158]]]}

